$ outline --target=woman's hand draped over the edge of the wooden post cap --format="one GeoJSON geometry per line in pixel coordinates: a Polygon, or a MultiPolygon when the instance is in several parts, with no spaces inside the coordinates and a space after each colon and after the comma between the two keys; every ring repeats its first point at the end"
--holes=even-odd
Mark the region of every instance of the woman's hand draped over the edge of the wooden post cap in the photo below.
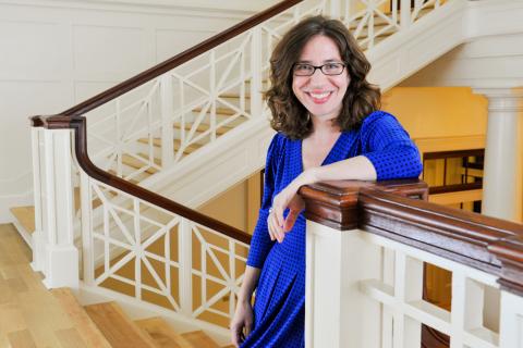
{"type": "Polygon", "coordinates": [[[283,241],[284,234],[292,229],[300,212],[305,208],[305,202],[297,196],[297,190],[303,185],[315,182],[312,170],[303,172],[294,181],[276,195],[272,200],[272,208],[267,217],[270,239],[283,241]],[[289,214],[283,217],[283,212],[289,209],[289,214]]]}

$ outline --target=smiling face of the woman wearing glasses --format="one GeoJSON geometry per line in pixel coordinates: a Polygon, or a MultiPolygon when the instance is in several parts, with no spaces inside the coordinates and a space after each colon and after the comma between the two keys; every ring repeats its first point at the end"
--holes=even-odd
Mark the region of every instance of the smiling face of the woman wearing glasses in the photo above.
{"type": "MultiPolygon", "coordinates": [[[[297,63],[315,66],[342,62],[335,41],[323,35],[312,37],[304,46],[297,63]]],[[[343,97],[349,86],[346,66],[340,75],[325,75],[317,69],[312,76],[292,76],[292,90],[311,115],[336,119],[342,108],[343,97]]]]}

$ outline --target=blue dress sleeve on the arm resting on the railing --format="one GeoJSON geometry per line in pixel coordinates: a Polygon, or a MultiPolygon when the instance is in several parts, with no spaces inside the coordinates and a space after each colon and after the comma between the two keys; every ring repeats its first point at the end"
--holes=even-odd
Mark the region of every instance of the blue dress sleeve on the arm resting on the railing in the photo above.
{"type": "Polygon", "coordinates": [[[376,112],[362,125],[362,154],[376,169],[377,179],[417,177],[419,151],[394,116],[376,112]]]}

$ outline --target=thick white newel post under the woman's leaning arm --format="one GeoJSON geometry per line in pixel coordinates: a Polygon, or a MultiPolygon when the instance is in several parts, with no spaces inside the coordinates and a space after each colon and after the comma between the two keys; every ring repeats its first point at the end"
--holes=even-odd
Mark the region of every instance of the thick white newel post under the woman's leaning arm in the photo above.
{"type": "Polygon", "coordinates": [[[381,322],[379,304],[358,286],[380,277],[379,248],[366,244],[358,229],[312,221],[306,238],[305,347],[378,347],[381,327],[372,323],[381,322]]]}

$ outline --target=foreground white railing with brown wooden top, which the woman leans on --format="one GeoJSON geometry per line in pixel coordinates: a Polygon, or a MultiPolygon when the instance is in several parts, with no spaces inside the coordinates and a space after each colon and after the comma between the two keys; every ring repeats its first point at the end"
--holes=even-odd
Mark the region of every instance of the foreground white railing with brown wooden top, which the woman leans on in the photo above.
{"type": "Polygon", "coordinates": [[[450,347],[521,347],[523,225],[409,199],[419,192],[402,185],[301,189],[306,347],[433,347],[423,327],[450,347]],[[450,310],[424,299],[425,263],[452,273],[450,310]]]}

